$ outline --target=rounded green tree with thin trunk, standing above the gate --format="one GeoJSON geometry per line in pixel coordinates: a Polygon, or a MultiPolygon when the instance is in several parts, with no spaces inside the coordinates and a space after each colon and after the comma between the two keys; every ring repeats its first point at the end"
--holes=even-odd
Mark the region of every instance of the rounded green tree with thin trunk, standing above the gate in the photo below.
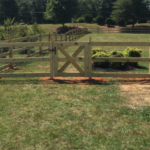
{"type": "Polygon", "coordinates": [[[45,19],[53,19],[64,27],[77,12],[78,0],[47,0],[45,19]]]}

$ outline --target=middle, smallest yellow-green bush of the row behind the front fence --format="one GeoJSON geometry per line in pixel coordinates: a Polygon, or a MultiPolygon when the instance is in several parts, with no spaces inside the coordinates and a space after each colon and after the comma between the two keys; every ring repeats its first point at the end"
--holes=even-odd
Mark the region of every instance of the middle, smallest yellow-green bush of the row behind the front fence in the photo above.
{"type": "MultiPolygon", "coordinates": [[[[119,51],[111,51],[110,52],[110,57],[124,57],[123,54],[119,51]]],[[[119,68],[122,66],[122,62],[111,62],[110,66],[112,68],[119,68]]]]}

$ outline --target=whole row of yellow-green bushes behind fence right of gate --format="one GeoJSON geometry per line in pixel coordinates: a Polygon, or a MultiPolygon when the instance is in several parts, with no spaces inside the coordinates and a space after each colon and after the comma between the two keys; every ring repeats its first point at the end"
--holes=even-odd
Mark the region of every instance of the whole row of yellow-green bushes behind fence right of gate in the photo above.
{"type": "MultiPolygon", "coordinates": [[[[95,47],[92,49],[92,58],[97,57],[141,57],[142,50],[138,48],[130,48],[128,47],[123,52],[119,51],[111,51],[110,53],[106,52],[104,49],[100,49],[95,47]]],[[[96,67],[112,67],[112,68],[120,68],[123,65],[130,66],[138,66],[138,62],[94,62],[94,66],[96,67]]]]}

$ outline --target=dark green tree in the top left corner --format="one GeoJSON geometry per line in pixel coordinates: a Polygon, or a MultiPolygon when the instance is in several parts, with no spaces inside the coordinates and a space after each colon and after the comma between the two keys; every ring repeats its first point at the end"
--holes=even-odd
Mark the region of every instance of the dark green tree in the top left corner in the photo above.
{"type": "Polygon", "coordinates": [[[0,0],[0,21],[3,24],[4,20],[15,17],[18,21],[19,7],[16,0],[0,0]]]}

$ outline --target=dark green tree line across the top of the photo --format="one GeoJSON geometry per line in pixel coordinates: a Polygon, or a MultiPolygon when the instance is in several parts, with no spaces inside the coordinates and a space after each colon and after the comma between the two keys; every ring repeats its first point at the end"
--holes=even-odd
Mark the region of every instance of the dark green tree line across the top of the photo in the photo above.
{"type": "Polygon", "coordinates": [[[27,24],[65,24],[90,14],[102,21],[150,19],[149,0],[0,0],[0,24],[8,18],[27,24]]]}

